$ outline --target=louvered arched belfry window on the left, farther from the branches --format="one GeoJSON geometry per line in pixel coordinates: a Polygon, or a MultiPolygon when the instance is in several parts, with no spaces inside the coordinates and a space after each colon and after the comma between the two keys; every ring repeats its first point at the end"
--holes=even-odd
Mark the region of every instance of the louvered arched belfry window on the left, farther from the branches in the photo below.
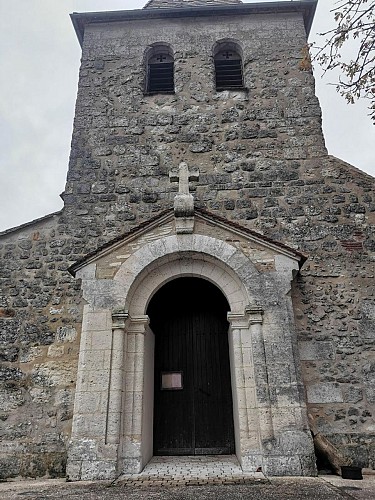
{"type": "Polygon", "coordinates": [[[148,60],[147,92],[174,91],[174,61],[167,50],[156,50],[148,60]]]}

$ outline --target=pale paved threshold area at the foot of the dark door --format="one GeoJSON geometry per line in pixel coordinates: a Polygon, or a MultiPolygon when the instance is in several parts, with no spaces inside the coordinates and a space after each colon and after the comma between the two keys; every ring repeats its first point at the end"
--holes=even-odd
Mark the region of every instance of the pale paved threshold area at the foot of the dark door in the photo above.
{"type": "Polygon", "coordinates": [[[262,472],[245,474],[235,455],[153,457],[140,474],[119,477],[123,485],[244,484],[266,481],[262,472]]]}

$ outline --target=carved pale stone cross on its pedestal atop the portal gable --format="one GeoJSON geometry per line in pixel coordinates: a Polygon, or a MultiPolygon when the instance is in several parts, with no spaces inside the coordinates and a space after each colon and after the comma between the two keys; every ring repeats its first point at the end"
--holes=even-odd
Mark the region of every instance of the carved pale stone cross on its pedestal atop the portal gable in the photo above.
{"type": "Polygon", "coordinates": [[[178,171],[169,173],[171,182],[178,182],[178,193],[174,198],[174,215],[177,233],[192,233],[194,228],[194,198],[189,191],[189,181],[199,179],[199,171],[189,171],[187,163],[181,162],[178,171]]]}

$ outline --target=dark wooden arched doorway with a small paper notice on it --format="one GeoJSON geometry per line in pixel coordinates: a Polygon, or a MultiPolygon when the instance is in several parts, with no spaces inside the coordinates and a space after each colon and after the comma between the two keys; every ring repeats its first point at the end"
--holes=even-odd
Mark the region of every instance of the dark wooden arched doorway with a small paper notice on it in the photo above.
{"type": "Polygon", "coordinates": [[[234,453],[228,310],[201,278],[174,279],[151,299],[154,455],[234,453]]]}

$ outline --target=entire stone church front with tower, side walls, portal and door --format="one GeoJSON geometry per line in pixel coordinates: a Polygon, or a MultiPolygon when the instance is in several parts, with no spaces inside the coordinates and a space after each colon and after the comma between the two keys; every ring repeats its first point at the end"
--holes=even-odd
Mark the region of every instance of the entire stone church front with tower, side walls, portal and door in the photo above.
{"type": "Polygon", "coordinates": [[[373,178],[327,154],[306,51],[315,7],[72,15],[64,208],[0,235],[2,478],[113,479],[163,450],[314,475],[312,427],[374,467],[373,178]],[[189,354],[178,332],[219,316],[223,354],[189,354]],[[214,394],[220,372],[229,399],[214,394]]]}

